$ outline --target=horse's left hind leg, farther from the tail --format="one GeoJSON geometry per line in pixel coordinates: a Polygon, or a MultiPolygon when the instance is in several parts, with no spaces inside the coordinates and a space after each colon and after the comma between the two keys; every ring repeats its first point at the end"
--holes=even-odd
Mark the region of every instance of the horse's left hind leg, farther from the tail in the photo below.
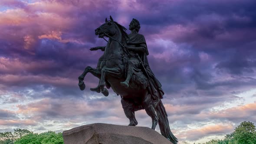
{"type": "Polygon", "coordinates": [[[121,98],[121,104],[122,107],[125,111],[125,115],[126,117],[130,120],[130,123],[128,124],[129,126],[135,126],[138,124],[136,118],[135,118],[135,114],[134,114],[134,106],[133,103],[125,100],[124,98],[121,98]]]}

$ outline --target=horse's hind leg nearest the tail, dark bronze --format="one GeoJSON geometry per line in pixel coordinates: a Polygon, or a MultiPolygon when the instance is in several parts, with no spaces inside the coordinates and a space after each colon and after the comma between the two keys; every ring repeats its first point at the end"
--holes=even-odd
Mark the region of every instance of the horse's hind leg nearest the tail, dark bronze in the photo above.
{"type": "Polygon", "coordinates": [[[145,111],[147,114],[152,118],[152,129],[154,130],[156,126],[158,125],[158,116],[156,114],[154,105],[152,105],[153,99],[151,98],[151,95],[147,94],[144,97],[144,100],[142,102],[143,107],[145,108],[145,111]]]}

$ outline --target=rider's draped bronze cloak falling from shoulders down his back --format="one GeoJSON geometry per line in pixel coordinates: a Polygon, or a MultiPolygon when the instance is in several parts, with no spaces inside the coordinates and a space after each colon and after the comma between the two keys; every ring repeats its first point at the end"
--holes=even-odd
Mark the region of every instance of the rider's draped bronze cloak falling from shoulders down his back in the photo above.
{"type": "MultiPolygon", "coordinates": [[[[148,53],[148,47],[147,47],[147,43],[146,43],[144,36],[139,33],[131,33],[128,36],[129,36],[129,41],[127,43],[128,46],[135,45],[135,47],[144,47],[146,49],[146,52],[140,52],[138,54],[143,62],[146,72],[148,73],[148,75],[147,75],[146,72],[144,72],[144,75],[149,79],[149,85],[150,85],[149,91],[151,94],[158,97],[158,99],[163,98],[164,91],[161,88],[162,85],[158,81],[158,79],[154,76],[154,73],[152,72],[152,70],[150,69],[149,64],[148,64],[147,56],[149,53],[148,53]]],[[[153,98],[154,98],[154,96],[153,96],[153,98]]]]}

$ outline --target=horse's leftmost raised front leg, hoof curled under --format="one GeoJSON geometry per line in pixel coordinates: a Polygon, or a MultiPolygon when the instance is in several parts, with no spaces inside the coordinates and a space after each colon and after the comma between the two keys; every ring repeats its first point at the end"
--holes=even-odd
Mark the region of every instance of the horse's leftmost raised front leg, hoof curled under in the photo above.
{"type": "Polygon", "coordinates": [[[85,89],[85,83],[83,82],[84,78],[85,78],[85,75],[90,72],[92,75],[94,75],[95,77],[97,77],[98,79],[101,78],[101,71],[98,70],[98,69],[93,69],[92,67],[90,66],[87,66],[84,70],[84,72],[78,77],[78,80],[79,80],[79,88],[80,90],[84,90],[85,89]]]}

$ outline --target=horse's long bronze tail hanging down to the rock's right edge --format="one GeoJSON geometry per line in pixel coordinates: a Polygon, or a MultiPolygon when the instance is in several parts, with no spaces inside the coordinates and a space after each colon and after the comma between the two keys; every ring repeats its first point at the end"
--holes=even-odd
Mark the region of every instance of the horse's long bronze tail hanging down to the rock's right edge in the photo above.
{"type": "Polygon", "coordinates": [[[166,137],[169,141],[171,141],[173,144],[177,144],[178,139],[172,134],[170,130],[169,121],[167,119],[167,113],[161,100],[156,106],[156,112],[158,115],[158,124],[161,134],[164,137],[166,137]]]}

